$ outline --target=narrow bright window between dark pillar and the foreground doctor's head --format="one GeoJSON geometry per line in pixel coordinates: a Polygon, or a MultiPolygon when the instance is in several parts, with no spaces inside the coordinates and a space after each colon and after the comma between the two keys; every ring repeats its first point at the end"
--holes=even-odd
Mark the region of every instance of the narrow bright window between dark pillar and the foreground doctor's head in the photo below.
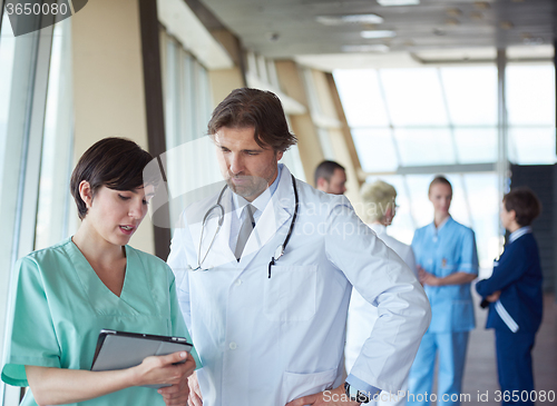
{"type": "Polygon", "coordinates": [[[222,181],[214,145],[207,137],[212,112],[207,70],[173,37],[162,31],[166,126],[166,176],[170,224],[188,196],[222,181]]]}

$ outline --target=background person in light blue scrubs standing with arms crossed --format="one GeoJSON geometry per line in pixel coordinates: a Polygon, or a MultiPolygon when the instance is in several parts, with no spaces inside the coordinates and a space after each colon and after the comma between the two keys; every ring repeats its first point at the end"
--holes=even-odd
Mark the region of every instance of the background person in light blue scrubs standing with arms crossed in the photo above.
{"type": "Polygon", "coordinates": [[[416,230],[412,249],[432,318],[410,370],[408,405],[429,405],[436,397],[438,405],[460,405],[468,334],[475,328],[470,283],[478,276],[476,238],[449,215],[452,187],[447,178],[433,179],[429,199],[433,222],[416,230]],[[431,394],[437,354],[438,393],[431,394]]]}

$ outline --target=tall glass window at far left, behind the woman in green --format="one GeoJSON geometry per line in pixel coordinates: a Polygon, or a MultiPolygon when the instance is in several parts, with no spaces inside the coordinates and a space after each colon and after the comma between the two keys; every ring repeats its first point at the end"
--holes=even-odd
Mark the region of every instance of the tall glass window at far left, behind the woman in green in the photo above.
{"type": "MultiPolygon", "coordinates": [[[[0,32],[0,348],[14,260],[65,236],[71,165],[69,19],[13,37],[0,32]]],[[[0,402],[20,389],[0,384],[0,402]]]]}

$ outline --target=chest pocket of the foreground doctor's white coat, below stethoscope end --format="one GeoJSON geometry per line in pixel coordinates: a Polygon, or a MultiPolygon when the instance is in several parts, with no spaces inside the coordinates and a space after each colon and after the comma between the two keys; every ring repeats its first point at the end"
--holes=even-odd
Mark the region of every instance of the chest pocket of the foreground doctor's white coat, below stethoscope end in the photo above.
{"type": "Polygon", "coordinates": [[[274,266],[264,285],[264,313],[270,320],[305,321],[315,315],[315,265],[274,266]]]}

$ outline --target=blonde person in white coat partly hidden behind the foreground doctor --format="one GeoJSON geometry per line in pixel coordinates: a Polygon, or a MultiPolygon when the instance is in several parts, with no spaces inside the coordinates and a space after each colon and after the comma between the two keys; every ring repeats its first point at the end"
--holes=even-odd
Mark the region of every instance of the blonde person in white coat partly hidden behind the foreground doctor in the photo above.
{"type": "MultiPolygon", "coordinates": [[[[378,180],[373,184],[364,184],[360,195],[364,204],[364,220],[369,227],[417,275],[412,248],[387,234],[387,227],[391,225],[397,209],[397,190],[394,187],[382,180],[378,180]]],[[[350,369],[354,365],[362,345],[368,339],[377,319],[377,307],[373,307],[355,289],[352,289],[346,321],[346,345],[344,348],[344,365],[348,373],[350,373],[350,369]]],[[[382,393],[378,397],[378,405],[404,404],[405,393],[382,393]]]]}

